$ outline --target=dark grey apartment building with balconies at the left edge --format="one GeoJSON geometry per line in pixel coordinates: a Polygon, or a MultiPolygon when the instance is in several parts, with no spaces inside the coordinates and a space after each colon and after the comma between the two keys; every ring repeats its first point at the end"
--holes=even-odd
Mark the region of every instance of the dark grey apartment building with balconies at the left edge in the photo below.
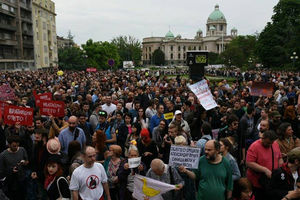
{"type": "Polygon", "coordinates": [[[31,0],[0,0],[0,70],[34,68],[31,0]]]}

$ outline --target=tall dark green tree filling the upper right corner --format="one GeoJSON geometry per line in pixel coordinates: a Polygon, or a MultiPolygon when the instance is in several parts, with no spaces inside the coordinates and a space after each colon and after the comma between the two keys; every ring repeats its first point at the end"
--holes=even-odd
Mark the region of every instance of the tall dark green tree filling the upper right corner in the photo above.
{"type": "MultiPolygon", "coordinates": [[[[256,52],[267,67],[291,65],[293,52],[300,54],[300,1],[280,0],[274,7],[272,22],[260,33],[256,52]]],[[[299,59],[296,66],[299,66],[299,59]]],[[[299,69],[299,68],[298,68],[299,69]]]]}

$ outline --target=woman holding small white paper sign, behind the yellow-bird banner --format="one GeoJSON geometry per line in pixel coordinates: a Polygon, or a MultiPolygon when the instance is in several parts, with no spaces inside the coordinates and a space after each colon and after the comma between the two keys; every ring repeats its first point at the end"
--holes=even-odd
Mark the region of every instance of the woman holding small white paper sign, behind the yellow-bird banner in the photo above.
{"type": "Polygon", "coordinates": [[[140,174],[142,176],[146,175],[146,166],[141,161],[138,167],[131,168],[129,161],[136,158],[140,158],[139,151],[135,146],[132,145],[128,150],[128,159],[125,159],[120,164],[120,167],[117,171],[120,183],[119,200],[132,199],[135,174],[140,174]]]}

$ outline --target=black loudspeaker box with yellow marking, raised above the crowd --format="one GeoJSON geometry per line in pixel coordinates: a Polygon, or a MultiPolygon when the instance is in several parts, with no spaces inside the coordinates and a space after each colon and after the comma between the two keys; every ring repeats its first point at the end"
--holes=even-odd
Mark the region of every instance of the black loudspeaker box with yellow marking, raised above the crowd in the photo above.
{"type": "Polygon", "coordinates": [[[204,67],[208,65],[208,51],[187,51],[186,63],[189,66],[190,79],[200,81],[204,76],[204,67]]]}

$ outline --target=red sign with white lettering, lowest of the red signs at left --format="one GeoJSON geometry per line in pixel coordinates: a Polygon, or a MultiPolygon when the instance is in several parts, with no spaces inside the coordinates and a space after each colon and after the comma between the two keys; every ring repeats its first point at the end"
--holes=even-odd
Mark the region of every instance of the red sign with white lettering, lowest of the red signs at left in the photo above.
{"type": "Polygon", "coordinates": [[[33,109],[7,105],[4,108],[4,123],[31,126],[33,121],[33,109]]]}

